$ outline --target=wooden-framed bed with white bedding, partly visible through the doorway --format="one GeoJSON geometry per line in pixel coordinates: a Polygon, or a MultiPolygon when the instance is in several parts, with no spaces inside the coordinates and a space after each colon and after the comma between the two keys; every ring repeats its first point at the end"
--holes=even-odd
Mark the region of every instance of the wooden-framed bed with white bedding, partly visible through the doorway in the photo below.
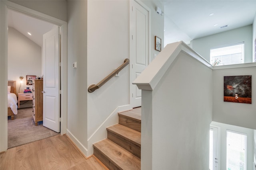
{"type": "Polygon", "coordinates": [[[16,96],[16,81],[8,81],[8,116],[11,116],[11,120],[14,119],[14,115],[18,113],[18,100],[16,96]]]}

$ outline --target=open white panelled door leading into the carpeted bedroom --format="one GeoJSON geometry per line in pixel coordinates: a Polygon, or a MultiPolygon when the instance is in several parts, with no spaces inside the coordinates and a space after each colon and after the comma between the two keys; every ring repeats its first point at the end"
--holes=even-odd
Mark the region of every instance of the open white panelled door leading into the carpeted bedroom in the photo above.
{"type": "Polygon", "coordinates": [[[60,29],[43,35],[43,125],[60,132],[60,29]]]}

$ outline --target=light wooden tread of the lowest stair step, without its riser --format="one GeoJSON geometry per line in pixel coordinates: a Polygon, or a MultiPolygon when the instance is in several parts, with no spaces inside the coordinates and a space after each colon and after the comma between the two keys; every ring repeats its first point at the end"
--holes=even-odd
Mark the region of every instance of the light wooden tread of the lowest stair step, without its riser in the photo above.
{"type": "Polygon", "coordinates": [[[93,144],[108,159],[120,169],[140,169],[140,158],[123,149],[109,139],[93,144]]]}

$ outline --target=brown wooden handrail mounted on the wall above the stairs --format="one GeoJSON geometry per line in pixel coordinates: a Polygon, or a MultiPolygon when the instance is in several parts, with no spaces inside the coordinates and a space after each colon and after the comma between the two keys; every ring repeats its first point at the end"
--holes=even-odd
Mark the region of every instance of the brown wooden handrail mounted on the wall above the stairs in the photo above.
{"type": "Polygon", "coordinates": [[[118,72],[120,72],[125,66],[127,66],[130,63],[129,59],[124,59],[124,63],[120,65],[116,70],[114,70],[112,73],[108,74],[103,80],[101,80],[98,84],[92,84],[88,87],[88,92],[92,93],[96,89],[100,88],[103,84],[108,82],[112,77],[114,77],[118,72]]]}

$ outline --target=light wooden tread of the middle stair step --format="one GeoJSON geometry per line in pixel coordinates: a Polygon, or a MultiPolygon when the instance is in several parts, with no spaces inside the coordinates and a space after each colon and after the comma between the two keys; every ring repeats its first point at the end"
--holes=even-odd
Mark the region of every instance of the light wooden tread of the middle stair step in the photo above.
{"type": "Polygon", "coordinates": [[[134,143],[135,145],[141,145],[141,133],[134,129],[116,124],[108,127],[107,130],[115,133],[116,135],[124,137],[124,139],[134,143]]]}

